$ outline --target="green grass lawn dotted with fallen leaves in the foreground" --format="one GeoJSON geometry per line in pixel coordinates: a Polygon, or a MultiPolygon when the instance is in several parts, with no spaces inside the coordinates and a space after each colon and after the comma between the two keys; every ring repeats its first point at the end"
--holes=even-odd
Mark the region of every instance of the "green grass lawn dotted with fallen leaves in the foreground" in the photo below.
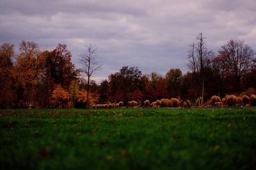
{"type": "Polygon", "coordinates": [[[0,115],[0,169],[256,169],[256,109],[0,115]]]}

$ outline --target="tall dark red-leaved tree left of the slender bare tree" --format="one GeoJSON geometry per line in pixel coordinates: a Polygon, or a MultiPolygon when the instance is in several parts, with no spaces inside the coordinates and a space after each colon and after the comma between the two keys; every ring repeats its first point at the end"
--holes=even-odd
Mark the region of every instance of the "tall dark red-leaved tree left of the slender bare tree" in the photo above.
{"type": "Polygon", "coordinates": [[[58,46],[51,51],[45,50],[39,56],[38,63],[41,63],[40,82],[38,91],[41,91],[42,105],[48,107],[51,105],[51,93],[55,84],[60,84],[69,91],[72,81],[77,80],[79,70],[75,68],[71,62],[71,52],[67,49],[67,45],[59,43],[58,46]]]}

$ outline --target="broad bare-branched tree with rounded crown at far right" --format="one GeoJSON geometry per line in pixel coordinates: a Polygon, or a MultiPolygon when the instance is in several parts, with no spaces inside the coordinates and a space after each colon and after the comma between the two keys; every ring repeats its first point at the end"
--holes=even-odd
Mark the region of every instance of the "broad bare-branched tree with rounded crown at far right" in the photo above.
{"type": "Polygon", "coordinates": [[[219,50],[225,72],[230,73],[235,81],[236,91],[241,91],[241,82],[252,68],[255,53],[241,40],[230,40],[219,50]]]}

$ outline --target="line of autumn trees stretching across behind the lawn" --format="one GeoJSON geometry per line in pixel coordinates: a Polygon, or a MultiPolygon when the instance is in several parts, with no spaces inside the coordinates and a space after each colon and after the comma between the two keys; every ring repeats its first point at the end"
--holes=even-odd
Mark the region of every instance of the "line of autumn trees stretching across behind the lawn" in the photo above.
{"type": "Polygon", "coordinates": [[[35,42],[22,41],[19,54],[14,45],[0,47],[0,107],[4,108],[84,108],[134,100],[182,98],[195,102],[212,95],[255,94],[255,52],[241,40],[229,40],[218,52],[207,49],[200,33],[189,45],[189,72],[171,68],[165,75],[143,74],[137,66],[123,66],[97,84],[90,78],[100,70],[97,47],[89,45],[75,68],[67,45],[40,50],[35,42]],[[84,76],[84,74],[86,76],[84,76]]]}

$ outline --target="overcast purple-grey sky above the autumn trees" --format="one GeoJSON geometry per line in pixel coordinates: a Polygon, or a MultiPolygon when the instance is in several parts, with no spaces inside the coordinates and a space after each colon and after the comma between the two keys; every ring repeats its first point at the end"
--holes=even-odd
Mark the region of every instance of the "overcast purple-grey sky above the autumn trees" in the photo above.
{"type": "Polygon", "coordinates": [[[188,45],[202,32],[215,52],[230,39],[256,50],[255,0],[0,0],[0,43],[40,49],[67,44],[79,68],[84,45],[97,45],[100,82],[122,66],[164,75],[188,71],[188,45]]]}

